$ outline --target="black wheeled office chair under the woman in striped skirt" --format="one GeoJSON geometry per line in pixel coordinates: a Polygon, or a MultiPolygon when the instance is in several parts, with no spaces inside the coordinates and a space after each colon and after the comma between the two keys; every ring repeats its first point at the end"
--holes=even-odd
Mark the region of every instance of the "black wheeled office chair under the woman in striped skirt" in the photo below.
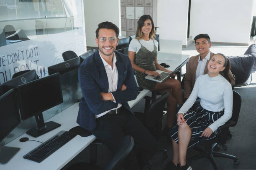
{"type": "Polygon", "coordinates": [[[217,143],[223,145],[224,150],[227,150],[227,147],[225,147],[224,144],[227,139],[226,136],[228,135],[228,128],[236,125],[236,123],[238,121],[238,117],[239,117],[239,112],[241,109],[241,102],[242,102],[241,95],[239,95],[238,92],[233,90],[233,114],[232,114],[232,117],[230,118],[230,120],[228,120],[228,122],[226,122],[224,125],[219,127],[221,132],[217,136],[217,138],[212,139],[212,140],[204,140],[204,141],[200,142],[194,149],[200,151],[201,153],[198,155],[195,155],[195,157],[188,158],[187,159],[188,161],[196,160],[199,158],[207,158],[208,160],[210,160],[210,163],[212,164],[212,166],[215,170],[219,170],[219,168],[218,168],[218,165],[217,165],[214,157],[233,159],[234,164],[239,165],[240,162],[236,156],[229,155],[226,153],[217,152],[215,150],[216,150],[216,148],[218,149],[217,143]]]}

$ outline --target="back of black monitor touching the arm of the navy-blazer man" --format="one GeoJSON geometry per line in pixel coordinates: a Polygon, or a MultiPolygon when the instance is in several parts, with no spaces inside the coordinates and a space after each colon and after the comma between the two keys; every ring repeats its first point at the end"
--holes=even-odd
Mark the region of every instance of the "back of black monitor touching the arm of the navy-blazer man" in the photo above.
{"type": "Polygon", "coordinates": [[[54,74],[56,72],[59,72],[60,75],[69,72],[70,70],[74,70],[78,68],[81,64],[80,57],[72,58],[70,60],[61,62],[56,65],[52,65],[48,67],[48,74],[54,74]]]}

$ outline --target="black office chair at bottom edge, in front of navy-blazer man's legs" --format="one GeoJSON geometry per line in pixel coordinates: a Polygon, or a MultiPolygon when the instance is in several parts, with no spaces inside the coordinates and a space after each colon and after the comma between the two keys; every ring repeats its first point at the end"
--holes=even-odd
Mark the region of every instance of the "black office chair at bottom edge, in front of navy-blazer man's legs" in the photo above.
{"type": "Polygon", "coordinates": [[[101,168],[94,163],[74,163],[67,168],[67,170],[120,170],[126,156],[131,152],[134,145],[132,136],[125,136],[123,143],[115,155],[111,158],[107,167],[101,168]]]}

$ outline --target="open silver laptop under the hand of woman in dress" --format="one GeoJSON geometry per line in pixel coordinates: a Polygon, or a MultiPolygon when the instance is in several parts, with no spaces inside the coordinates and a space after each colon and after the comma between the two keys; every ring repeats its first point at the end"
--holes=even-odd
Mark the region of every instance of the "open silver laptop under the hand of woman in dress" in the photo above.
{"type": "Polygon", "coordinates": [[[152,76],[152,75],[147,75],[145,78],[148,80],[156,81],[156,82],[164,82],[167,78],[172,77],[172,75],[175,74],[177,70],[179,70],[183,65],[185,65],[188,62],[189,58],[184,60],[181,64],[179,64],[172,73],[161,71],[161,70],[156,70],[160,75],[152,76]]]}

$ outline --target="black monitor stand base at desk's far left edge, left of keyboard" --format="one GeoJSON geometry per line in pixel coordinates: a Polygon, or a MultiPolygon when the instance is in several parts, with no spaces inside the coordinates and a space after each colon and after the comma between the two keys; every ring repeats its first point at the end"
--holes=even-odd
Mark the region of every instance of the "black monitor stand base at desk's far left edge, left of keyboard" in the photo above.
{"type": "Polygon", "coordinates": [[[0,164],[6,164],[20,150],[9,146],[0,146],[0,164]]]}

